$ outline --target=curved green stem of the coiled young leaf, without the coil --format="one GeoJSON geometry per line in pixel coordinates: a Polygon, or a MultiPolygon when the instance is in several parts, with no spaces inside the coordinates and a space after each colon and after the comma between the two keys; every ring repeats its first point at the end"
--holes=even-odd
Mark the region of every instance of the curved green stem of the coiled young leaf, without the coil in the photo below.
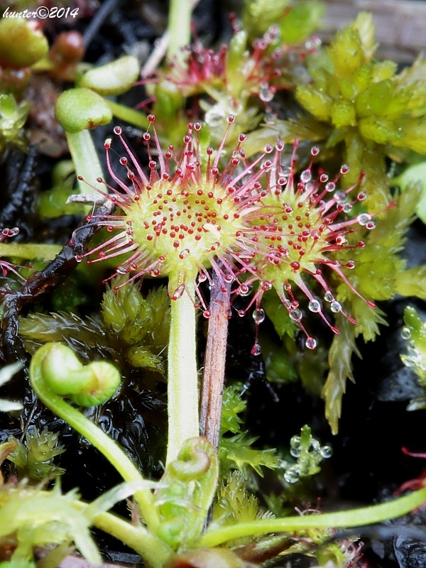
{"type": "MultiPolygon", "coordinates": [[[[88,420],[79,410],[66,403],[44,381],[42,362],[48,356],[51,344],[45,344],[34,354],[30,366],[30,381],[35,394],[50,410],[65,420],[77,432],[87,438],[91,444],[99,449],[112,466],[119,471],[125,481],[143,481],[143,477],[133,462],[113,439],[99,427],[88,420]]],[[[135,500],[141,508],[143,520],[152,532],[158,528],[160,519],[155,507],[153,493],[150,489],[141,489],[135,493],[135,500]]]]}

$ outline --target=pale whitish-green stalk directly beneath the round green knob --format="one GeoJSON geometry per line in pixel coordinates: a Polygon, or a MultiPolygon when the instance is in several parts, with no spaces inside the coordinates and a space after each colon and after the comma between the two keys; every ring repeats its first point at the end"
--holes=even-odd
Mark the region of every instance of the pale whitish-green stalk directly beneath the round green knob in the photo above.
{"type": "Polygon", "coordinates": [[[79,180],[78,182],[80,193],[92,195],[94,190],[90,185],[104,190],[105,187],[97,182],[97,178],[104,178],[104,173],[90,132],[88,130],[81,130],[75,133],[65,131],[65,134],[72,161],[75,165],[75,172],[84,179],[84,181],[79,180]]]}

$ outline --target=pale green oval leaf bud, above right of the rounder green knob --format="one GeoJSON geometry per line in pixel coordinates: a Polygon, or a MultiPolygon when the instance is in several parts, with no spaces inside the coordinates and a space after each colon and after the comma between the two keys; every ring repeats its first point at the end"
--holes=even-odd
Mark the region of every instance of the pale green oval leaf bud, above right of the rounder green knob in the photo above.
{"type": "Polygon", "coordinates": [[[87,71],[80,80],[80,87],[109,97],[123,94],[136,82],[140,65],[133,55],[125,55],[116,61],[87,71]]]}

